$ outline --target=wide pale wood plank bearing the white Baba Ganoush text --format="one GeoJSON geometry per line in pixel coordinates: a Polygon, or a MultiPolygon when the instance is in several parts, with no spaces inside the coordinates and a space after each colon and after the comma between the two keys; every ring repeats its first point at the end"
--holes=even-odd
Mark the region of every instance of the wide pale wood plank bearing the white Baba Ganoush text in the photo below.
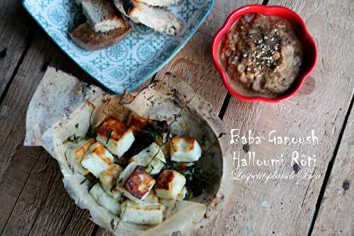
{"type": "MultiPolygon", "coordinates": [[[[275,146],[266,140],[261,145],[251,144],[256,159],[280,159],[280,154],[284,154],[285,162],[280,167],[247,166],[244,173],[290,174],[294,170],[292,154],[297,151],[309,156],[316,154],[316,165],[309,167],[309,172],[321,176],[266,183],[235,180],[232,201],[213,229],[215,235],[307,235],[324,174],[353,97],[353,60],[348,50],[354,46],[353,1],[269,1],[269,4],[288,6],[304,18],[319,46],[319,63],[302,91],[290,101],[243,103],[233,98],[224,125],[228,131],[237,128],[245,135],[251,130],[253,135],[265,139],[271,130],[276,130],[279,136],[290,137],[311,135],[314,130],[319,139],[319,144],[314,146],[298,143],[275,146]]],[[[247,157],[243,145],[229,147],[230,152],[247,157]]]]}

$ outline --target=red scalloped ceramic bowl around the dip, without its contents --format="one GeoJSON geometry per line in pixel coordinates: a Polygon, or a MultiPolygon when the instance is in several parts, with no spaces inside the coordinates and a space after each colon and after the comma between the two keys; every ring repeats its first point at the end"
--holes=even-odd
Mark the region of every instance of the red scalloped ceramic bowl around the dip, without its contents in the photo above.
{"type": "Polygon", "coordinates": [[[317,62],[317,46],[316,43],[314,43],[314,39],[309,34],[304,21],[294,11],[287,9],[284,6],[249,5],[236,9],[227,17],[224,26],[222,26],[212,40],[212,59],[214,60],[215,67],[217,67],[222,75],[224,86],[233,96],[236,96],[236,98],[241,99],[242,101],[266,101],[276,103],[295,96],[295,94],[301,89],[302,84],[304,84],[305,79],[312,74],[317,62]],[[232,84],[230,84],[227,74],[219,61],[219,49],[222,46],[224,36],[241,16],[249,13],[261,13],[265,16],[278,16],[289,21],[304,48],[304,68],[302,74],[300,74],[295,81],[291,91],[287,94],[276,97],[275,99],[266,98],[264,96],[244,96],[239,94],[239,92],[232,87],[232,84]]]}

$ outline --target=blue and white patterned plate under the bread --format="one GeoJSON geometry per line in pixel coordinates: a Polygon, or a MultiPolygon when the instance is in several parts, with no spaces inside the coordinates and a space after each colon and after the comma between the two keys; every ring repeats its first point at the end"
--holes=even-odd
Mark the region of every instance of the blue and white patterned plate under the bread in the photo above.
{"type": "Polygon", "coordinates": [[[82,14],[74,0],[24,0],[23,6],[82,69],[111,91],[122,93],[137,88],[181,50],[212,10],[214,0],[183,0],[181,6],[170,7],[183,22],[183,30],[174,37],[131,23],[132,32],[120,43],[95,52],[82,50],[69,37],[82,14]]]}

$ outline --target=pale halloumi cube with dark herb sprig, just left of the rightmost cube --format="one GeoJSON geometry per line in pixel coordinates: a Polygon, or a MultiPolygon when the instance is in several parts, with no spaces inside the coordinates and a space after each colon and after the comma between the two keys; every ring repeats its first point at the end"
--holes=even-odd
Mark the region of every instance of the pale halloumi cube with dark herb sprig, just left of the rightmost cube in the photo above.
{"type": "Polygon", "coordinates": [[[129,162],[135,162],[144,167],[148,174],[159,174],[166,163],[164,153],[156,143],[152,143],[139,154],[130,158],[129,162]]]}

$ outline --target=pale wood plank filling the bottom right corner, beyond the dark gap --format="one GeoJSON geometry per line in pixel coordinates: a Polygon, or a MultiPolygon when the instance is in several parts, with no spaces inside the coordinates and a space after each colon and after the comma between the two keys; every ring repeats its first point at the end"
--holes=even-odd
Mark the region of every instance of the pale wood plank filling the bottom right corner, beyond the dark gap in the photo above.
{"type": "Polygon", "coordinates": [[[354,110],[333,164],[313,235],[354,235],[354,110]]]}

